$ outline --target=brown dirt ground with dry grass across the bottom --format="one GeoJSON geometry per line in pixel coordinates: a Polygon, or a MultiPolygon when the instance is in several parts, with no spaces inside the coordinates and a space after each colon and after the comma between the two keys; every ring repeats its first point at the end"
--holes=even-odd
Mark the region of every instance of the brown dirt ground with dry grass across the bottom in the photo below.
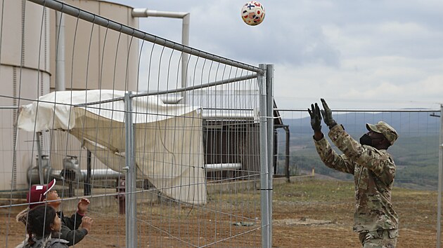
{"type": "MultiPolygon", "coordinates": [[[[170,203],[139,206],[138,246],[262,247],[259,198],[236,195],[243,200],[219,195],[205,209],[170,203]],[[243,205],[248,201],[252,204],[243,205]],[[242,209],[238,216],[224,214],[232,207],[242,209]]],[[[353,195],[352,183],[342,181],[274,186],[273,247],[361,247],[358,235],[352,232],[353,195]]],[[[392,195],[401,221],[397,247],[435,247],[437,193],[395,188],[392,195]]],[[[15,222],[21,209],[0,209],[1,247],[15,247],[23,240],[24,226],[15,222]]],[[[125,219],[117,208],[91,209],[88,215],[94,219],[93,229],[75,247],[125,246],[125,219]]]]}

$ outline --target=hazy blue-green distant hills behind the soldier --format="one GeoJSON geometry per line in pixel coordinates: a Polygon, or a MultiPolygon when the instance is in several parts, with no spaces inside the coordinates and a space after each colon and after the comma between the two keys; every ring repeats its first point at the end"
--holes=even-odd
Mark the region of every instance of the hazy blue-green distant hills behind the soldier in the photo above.
{"type": "MultiPolygon", "coordinates": [[[[396,186],[437,189],[440,118],[430,116],[428,112],[340,113],[335,114],[334,118],[357,140],[367,132],[366,123],[384,120],[392,125],[399,132],[399,139],[389,149],[397,165],[396,186]]],[[[289,125],[290,129],[292,172],[315,168],[317,173],[330,177],[352,179],[351,175],[335,172],[323,165],[312,142],[309,117],[286,118],[283,123],[289,125]]],[[[322,126],[323,132],[327,134],[328,128],[324,123],[322,126]]],[[[279,132],[279,153],[284,151],[284,140],[283,132],[279,132]]]]}

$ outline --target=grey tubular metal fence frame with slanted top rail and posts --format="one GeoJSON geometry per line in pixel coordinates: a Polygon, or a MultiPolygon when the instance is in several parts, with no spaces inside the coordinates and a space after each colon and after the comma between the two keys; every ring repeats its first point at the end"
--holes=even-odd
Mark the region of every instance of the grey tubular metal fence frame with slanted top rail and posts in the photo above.
{"type": "MultiPolygon", "coordinates": [[[[195,88],[205,88],[213,85],[221,85],[224,83],[232,83],[236,81],[243,81],[251,78],[257,78],[259,84],[259,146],[260,146],[260,186],[261,186],[261,212],[262,212],[262,247],[271,247],[272,244],[272,143],[271,139],[273,134],[273,82],[274,82],[274,65],[271,64],[259,64],[259,67],[253,67],[249,64],[244,64],[241,62],[236,62],[234,60],[229,60],[218,55],[211,53],[206,53],[202,50],[191,48],[189,46],[181,45],[180,43],[175,43],[167,39],[162,39],[158,36],[148,34],[146,32],[141,32],[138,29],[122,25],[118,22],[114,22],[107,18],[103,18],[99,15],[83,11],[80,8],[64,4],[63,2],[56,0],[27,0],[39,4],[41,6],[51,8],[60,13],[67,15],[72,15],[75,18],[85,20],[87,22],[100,25],[101,27],[106,27],[108,29],[113,29],[122,34],[127,34],[132,37],[136,37],[143,41],[148,41],[150,43],[155,43],[160,46],[165,46],[167,48],[172,48],[173,50],[180,51],[181,53],[187,55],[195,55],[198,57],[205,58],[207,60],[212,60],[214,62],[221,62],[226,65],[231,65],[239,69],[245,69],[248,71],[253,71],[255,74],[248,76],[240,76],[237,78],[231,78],[224,81],[216,81],[212,83],[207,83],[205,85],[198,85],[198,87],[183,87],[174,90],[165,90],[162,92],[146,92],[143,94],[133,94],[128,92],[124,97],[125,104],[125,137],[126,137],[126,149],[127,154],[134,153],[134,125],[131,122],[131,113],[133,109],[131,106],[131,97],[143,96],[143,95],[159,95],[168,92],[184,92],[186,90],[193,90],[195,88]]],[[[117,100],[117,99],[113,99],[117,100]]],[[[94,103],[96,104],[96,103],[94,103]]],[[[135,184],[135,163],[133,156],[126,156],[127,163],[127,179],[130,183],[126,184],[127,187],[127,207],[126,207],[126,246],[136,247],[136,235],[137,235],[137,224],[136,224],[136,184],[135,184]]]]}

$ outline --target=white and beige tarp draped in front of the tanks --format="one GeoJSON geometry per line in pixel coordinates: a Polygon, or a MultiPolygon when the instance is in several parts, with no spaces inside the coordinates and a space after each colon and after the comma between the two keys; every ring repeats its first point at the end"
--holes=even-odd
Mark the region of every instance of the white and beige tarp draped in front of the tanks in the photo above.
{"type": "MultiPolygon", "coordinates": [[[[124,101],[79,106],[124,97],[124,91],[51,92],[20,107],[18,128],[66,130],[112,170],[124,167],[124,101]]],[[[206,202],[200,110],[163,104],[158,97],[132,98],[137,178],[163,194],[192,204],[206,202]]]]}

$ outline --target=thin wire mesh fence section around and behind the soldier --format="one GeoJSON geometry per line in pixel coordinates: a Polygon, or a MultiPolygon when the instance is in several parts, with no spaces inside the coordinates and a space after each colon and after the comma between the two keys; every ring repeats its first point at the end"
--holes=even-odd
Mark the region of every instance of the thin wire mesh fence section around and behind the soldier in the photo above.
{"type": "MultiPolygon", "coordinates": [[[[310,126],[309,117],[307,117],[304,109],[279,109],[283,118],[283,123],[288,125],[290,130],[290,163],[289,173],[291,177],[306,177],[312,174],[316,178],[339,179],[348,182],[338,186],[331,185],[333,188],[321,188],[324,181],[317,183],[317,194],[327,193],[321,198],[312,192],[302,192],[303,196],[297,197],[293,207],[295,216],[303,214],[303,203],[311,204],[313,209],[317,209],[318,215],[309,216],[309,211],[305,210],[309,218],[324,220],[326,216],[334,216],[333,221],[335,228],[340,229],[341,223],[347,223],[349,230],[352,227],[352,212],[354,211],[354,176],[332,170],[322,163],[320,160],[312,139],[313,131],[310,126]],[[348,188],[349,187],[349,188],[348,188]],[[342,193],[346,191],[347,195],[342,193]],[[343,207],[343,204],[348,204],[343,207]],[[322,207],[329,209],[329,213],[323,213],[322,207]],[[336,216],[338,209],[346,209],[344,216],[336,216]],[[346,221],[341,220],[347,219],[346,221]],[[341,222],[342,221],[342,222],[341,222]]],[[[390,146],[387,151],[394,158],[396,164],[396,174],[394,179],[394,189],[392,191],[392,205],[399,214],[399,247],[432,247],[436,245],[436,228],[437,228],[437,189],[439,181],[439,133],[440,123],[439,109],[392,109],[392,110],[352,110],[342,109],[340,111],[333,110],[334,119],[345,130],[359,140],[359,137],[366,130],[366,123],[377,123],[380,120],[392,125],[399,134],[399,139],[390,146]],[[418,237],[419,234],[423,237],[418,237]],[[423,235],[425,234],[425,235],[423,235]]],[[[323,133],[330,142],[327,135],[328,127],[323,125],[323,133]]],[[[278,130],[278,163],[276,165],[277,175],[285,175],[285,132],[278,130]]],[[[333,144],[330,142],[330,144],[333,144]]],[[[332,145],[333,146],[333,145],[332,145]]],[[[333,149],[342,154],[335,146],[333,149]]],[[[326,183],[328,184],[328,183],[326,183]]],[[[293,195],[298,190],[294,187],[293,195]]],[[[303,186],[300,186],[303,188],[303,186]]],[[[278,192],[278,191],[276,191],[278,192]]],[[[286,200],[291,201],[294,198],[289,195],[286,200]]],[[[276,208],[274,202],[274,208],[276,208]]],[[[314,211],[314,210],[312,210],[314,211]]],[[[303,215],[302,215],[303,216],[303,215]]],[[[305,215],[306,216],[306,215],[305,215]]],[[[278,218],[278,216],[276,217],[278,218]]],[[[296,219],[300,222],[299,219],[296,219]]],[[[276,220],[274,220],[276,221],[276,220]]],[[[300,239],[310,236],[300,232],[300,239]]],[[[323,235],[328,235],[328,230],[323,230],[323,235]]],[[[346,234],[339,235],[347,238],[346,234]]],[[[346,240],[335,240],[330,247],[343,247],[349,245],[359,245],[357,235],[354,240],[356,242],[349,244],[346,240]]],[[[302,247],[302,246],[301,246],[302,247]]]]}

